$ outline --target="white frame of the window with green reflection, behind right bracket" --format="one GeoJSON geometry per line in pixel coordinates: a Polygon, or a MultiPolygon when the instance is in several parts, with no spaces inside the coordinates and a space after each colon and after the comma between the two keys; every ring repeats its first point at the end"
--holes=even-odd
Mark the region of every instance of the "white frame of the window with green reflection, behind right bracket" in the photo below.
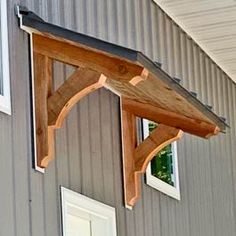
{"type": "MultiPolygon", "coordinates": [[[[149,136],[149,121],[143,119],[143,136],[144,138],[149,136]]],[[[172,153],[173,153],[173,179],[175,186],[171,186],[166,182],[158,179],[157,177],[151,174],[151,163],[149,163],[146,170],[146,183],[147,185],[161,191],[162,193],[180,200],[180,185],[179,185],[179,169],[178,169],[178,156],[177,156],[177,143],[173,142],[172,144],[172,153]]]]}

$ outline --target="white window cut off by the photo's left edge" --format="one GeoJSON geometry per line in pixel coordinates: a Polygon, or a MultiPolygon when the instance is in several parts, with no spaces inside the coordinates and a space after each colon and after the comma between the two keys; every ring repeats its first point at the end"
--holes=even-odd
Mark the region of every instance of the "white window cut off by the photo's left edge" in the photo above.
{"type": "Polygon", "coordinates": [[[11,113],[7,0],[0,0],[0,111],[11,113]]]}

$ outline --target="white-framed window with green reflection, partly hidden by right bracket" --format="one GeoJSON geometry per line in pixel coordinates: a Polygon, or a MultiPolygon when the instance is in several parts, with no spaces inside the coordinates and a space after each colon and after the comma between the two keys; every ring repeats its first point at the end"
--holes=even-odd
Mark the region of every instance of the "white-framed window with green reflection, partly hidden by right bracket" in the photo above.
{"type": "MultiPolygon", "coordinates": [[[[144,138],[149,135],[157,125],[148,120],[143,120],[144,138]]],[[[177,159],[177,144],[172,144],[160,151],[148,165],[146,171],[146,183],[177,199],[180,200],[179,173],[177,159]]]]}

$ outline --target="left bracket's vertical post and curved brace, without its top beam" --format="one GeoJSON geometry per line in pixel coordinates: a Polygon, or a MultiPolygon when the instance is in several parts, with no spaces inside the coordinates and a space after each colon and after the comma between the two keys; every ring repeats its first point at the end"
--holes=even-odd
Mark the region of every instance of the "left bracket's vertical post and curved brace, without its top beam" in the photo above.
{"type": "Polygon", "coordinates": [[[37,166],[45,168],[54,153],[54,129],[60,128],[71,108],[84,96],[104,85],[106,77],[79,68],[52,92],[52,60],[34,53],[34,91],[37,166]]]}

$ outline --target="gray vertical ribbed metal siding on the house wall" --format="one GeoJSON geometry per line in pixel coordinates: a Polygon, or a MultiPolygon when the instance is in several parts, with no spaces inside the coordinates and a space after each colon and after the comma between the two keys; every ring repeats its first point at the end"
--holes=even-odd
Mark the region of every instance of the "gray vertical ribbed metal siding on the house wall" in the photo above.
{"type": "MultiPolygon", "coordinates": [[[[222,236],[236,233],[236,86],[151,0],[8,1],[12,116],[0,113],[0,236],[61,235],[59,186],[116,207],[119,236],[222,236]],[[101,89],[84,98],[56,132],[56,158],[32,167],[28,37],[14,4],[50,22],[143,51],[228,118],[210,141],[178,144],[181,201],[142,183],[124,208],[119,99],[101,89]]],[[[57,87],[71,68],[55,63],[57,87]]]]}

